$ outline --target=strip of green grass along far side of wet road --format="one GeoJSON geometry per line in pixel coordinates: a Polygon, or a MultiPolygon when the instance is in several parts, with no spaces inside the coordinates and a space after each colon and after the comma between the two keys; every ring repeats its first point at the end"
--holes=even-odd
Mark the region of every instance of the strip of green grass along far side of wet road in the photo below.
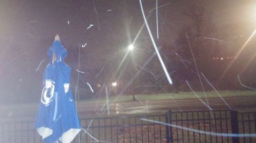
{"type": "MultiPolygon", "coordinates": [[[[205,98],[203,92],[196,92],[196,94],[200,98],[205,98]]],[[[212,91],[212,92],[205,92],[207,98],[220,98],[219,95],[212,91]]],[[[237,96],[256,96],[256,91],[220,91],[219,94],[222,97],[237,97],[237,96]]],[[[169,93],[169,94],[139,94],[135,95],[137,100],[140,101],[161,101],[161,100],[179,100],[179,99],[194,99],[197,98],[193,92],[181,92],[178,94],[169,93]]],[[[110,96],[111,103],[123,103],[123,102],[133,102],[133,95],[117,95],[117,96],[110,96]]],[[[105,103],[106,98],[105,96],[101,95],[101,98],[95,97],[92,101],[84,100],[79,101],[78,104],[94,104],[94,103],[105,103]]],[[[136,101],[137,102],[137,101],[136,101]]]]}

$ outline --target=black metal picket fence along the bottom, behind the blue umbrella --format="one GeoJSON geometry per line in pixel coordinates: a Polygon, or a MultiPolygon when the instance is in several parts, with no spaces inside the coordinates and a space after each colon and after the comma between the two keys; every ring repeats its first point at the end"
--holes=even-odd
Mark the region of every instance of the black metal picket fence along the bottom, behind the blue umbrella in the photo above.
{"type": "MultiPolygon", "coordinates": [[[[162,115],[81,119],[81,126],[73,143],[256,142],[256,112],[168,111],[162,115]],[[231,136],[234,134],[242,136],[231,136]]],[[[0,123],[0,142],[42,141],[33,121],[27,121],[0,123]]]]}

